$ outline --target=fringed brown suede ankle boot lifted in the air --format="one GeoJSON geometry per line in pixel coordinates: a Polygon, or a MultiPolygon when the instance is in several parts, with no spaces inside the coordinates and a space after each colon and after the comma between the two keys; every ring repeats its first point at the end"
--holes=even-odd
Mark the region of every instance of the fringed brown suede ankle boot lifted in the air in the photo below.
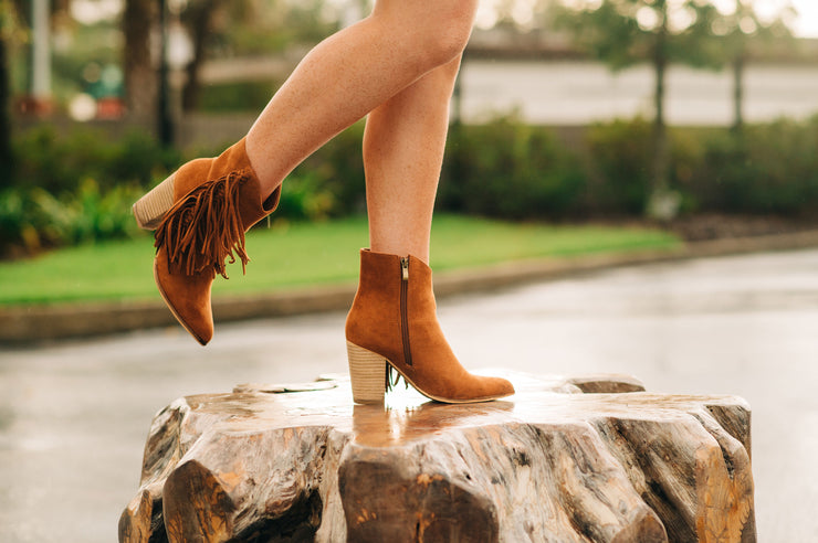
{"type": "Polygon", "coordinates": [[[207,344],[213,337],[210,287],[227,278],[226,260],[250,258],[244,233],[279,204],[281,188],[262,199],[242,139],[212,159],[192,160],[134,204],[143,228],[156,228],[154,278],[179,323],[207,344]]]}

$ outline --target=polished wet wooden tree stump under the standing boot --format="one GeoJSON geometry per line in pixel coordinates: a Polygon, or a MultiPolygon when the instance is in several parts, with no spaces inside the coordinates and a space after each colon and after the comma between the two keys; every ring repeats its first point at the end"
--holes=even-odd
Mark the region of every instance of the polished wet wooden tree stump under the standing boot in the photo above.
{"type": "Polygon", "coordinates": [[[743,400],[505,376],[484,404],[354,405],[343,379],[177,400],[119,541],[755,541],[743,400]]]}

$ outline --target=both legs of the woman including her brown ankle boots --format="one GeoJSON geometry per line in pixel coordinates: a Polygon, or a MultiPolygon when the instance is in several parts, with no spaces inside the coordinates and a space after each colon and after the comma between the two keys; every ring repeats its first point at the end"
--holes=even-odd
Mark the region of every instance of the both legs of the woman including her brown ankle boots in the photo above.
{"type": "Polygon", "coordinates": [[[370,251],[345,334],[353,398],[378,403],[392,370],[432,400],[514,393],[472,375],[436,316],[429,233],[460,58],[475,0],[378,0],[373,14],[316,46],[242,138],[193,160],[134,205],[156,228],[154,277],[177,320],[202,344],[213,333],[210,287],[227,258],[248,262],[244,232],[275,210],[283,179],[365,115],[370,251]]]}

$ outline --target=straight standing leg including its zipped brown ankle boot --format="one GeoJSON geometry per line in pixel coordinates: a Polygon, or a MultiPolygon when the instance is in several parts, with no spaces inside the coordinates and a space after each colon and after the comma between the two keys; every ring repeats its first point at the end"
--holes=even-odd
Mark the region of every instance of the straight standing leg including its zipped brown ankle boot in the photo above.
{"type": "Polygon", "coordinates": [[[374,109],[364,135],[370,251],[346,320],[353,398],[382,402],[397,371],[439,402],[514,393],[500,377],[469,373],[437,317],[429,232],[460,55],[374,109]]]}

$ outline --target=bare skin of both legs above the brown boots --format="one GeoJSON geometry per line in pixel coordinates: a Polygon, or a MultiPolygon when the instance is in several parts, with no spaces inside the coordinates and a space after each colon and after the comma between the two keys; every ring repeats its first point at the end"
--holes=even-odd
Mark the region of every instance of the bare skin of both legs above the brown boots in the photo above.
{"type": "Polygon", "coordinates": [[[368,114],[370,248],[428,263],[449,102],[475,9],[474,0],[378,0],[367,19],[317,45],[248,134],[262,193],[368,114]]]}

